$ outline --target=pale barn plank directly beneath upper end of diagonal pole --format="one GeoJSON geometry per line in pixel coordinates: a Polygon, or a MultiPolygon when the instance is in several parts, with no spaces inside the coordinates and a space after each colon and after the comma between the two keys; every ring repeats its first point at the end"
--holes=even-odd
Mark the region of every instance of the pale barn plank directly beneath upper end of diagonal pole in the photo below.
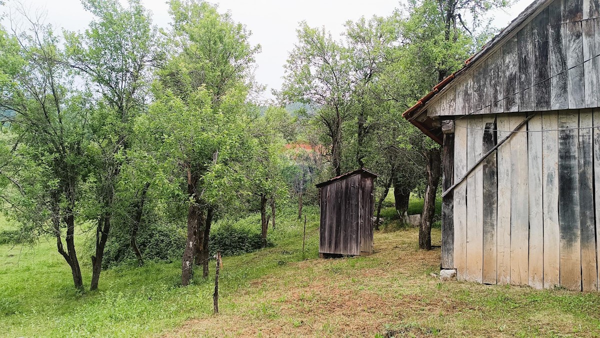
{"type": "Polygon", "coordinates": [[[527,122],[529,154],[529,285],[544,287],[544,211],[542,209],[542,114],[527,122]]]}

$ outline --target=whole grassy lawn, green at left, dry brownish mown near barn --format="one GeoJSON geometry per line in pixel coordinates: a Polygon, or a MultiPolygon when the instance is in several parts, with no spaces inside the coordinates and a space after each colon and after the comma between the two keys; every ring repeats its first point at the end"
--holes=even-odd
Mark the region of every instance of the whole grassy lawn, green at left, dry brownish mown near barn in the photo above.
{"type": "MultiPolygon", "coordinates": [[[[181,288],[178,261],[103,271],[99,292],[78,294],[51,240],[2,245],[0,336],[600,336],[600,294],[439,282],[439,248],[420,251],[415,228],[376,233],[371,256],[318,259],[311,211],[307,259],[292,217],[275,247],[224,258],[219,315],[214,275],[181,288]]],[[[433,238],[439,246],[438,229],[433,238]]]]}

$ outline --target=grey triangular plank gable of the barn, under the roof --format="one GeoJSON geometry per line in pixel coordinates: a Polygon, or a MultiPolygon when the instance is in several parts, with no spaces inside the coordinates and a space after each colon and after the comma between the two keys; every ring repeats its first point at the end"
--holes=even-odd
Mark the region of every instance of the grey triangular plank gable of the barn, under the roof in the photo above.
{"type": "Polygon", "coordinates": [[[554,0],[452,81],[428,116],[600,105],[600,0],[554,0]]]}

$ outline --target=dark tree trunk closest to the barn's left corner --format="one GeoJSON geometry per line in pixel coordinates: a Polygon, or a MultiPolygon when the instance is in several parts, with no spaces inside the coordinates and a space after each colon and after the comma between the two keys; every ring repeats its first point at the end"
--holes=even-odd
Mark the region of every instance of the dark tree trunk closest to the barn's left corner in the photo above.
{"type": "Polygon", "coordinates": [[[442,176],[442,157],[439,149],[425,150],[427,158],[427,188],[419,228],[419,248],[431,250],[431,224],[436,214],[437,186],[442,176]]]}

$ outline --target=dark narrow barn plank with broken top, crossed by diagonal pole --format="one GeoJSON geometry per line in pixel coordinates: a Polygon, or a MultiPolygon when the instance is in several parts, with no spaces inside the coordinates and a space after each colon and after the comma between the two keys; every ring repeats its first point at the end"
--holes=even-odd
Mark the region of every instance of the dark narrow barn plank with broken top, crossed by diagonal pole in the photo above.
{"type": "MultiPolygon", "coordinates": [[[[484,116],[483,153],[496,146],[496,116],[484,116]]],[[[496,284],[496,210],[498,205],[496,152],[488,156],[483,166],[483,279],[487,284],[496,284]]]]}

